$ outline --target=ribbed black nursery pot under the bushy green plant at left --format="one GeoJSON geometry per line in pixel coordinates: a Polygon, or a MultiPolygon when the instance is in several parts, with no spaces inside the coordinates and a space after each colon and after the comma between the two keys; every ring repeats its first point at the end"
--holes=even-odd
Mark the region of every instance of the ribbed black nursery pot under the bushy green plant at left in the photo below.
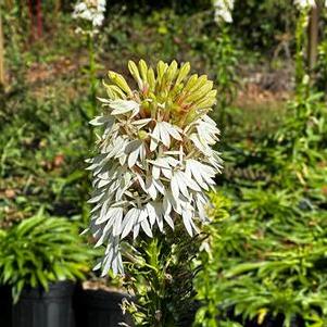
{"type": "MultiPolygon", "coordinates": [[[[49,286],[26,288],[13,305],[13,327],[71,327],[74,284],[59,281],[49,286]]],[[[1,325],[2,326],[2,325],[1,325]]]]}

